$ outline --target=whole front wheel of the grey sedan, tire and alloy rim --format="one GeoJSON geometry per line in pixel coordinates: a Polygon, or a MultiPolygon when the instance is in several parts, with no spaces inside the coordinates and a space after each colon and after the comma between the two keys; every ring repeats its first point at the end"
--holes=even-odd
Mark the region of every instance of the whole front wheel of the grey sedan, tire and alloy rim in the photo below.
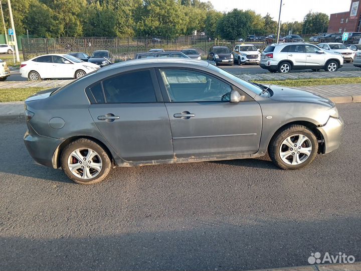
{"type": "Polygon", "coordinates": [[[295,170],[307,166],[314,160],[317,151],[315,134],[306,126],[296,124],[278,130],[268,146],[268,154],[272,162],[283,170],[295,170]],[[297,152],[294,152],[295,149],[297,152]]]}

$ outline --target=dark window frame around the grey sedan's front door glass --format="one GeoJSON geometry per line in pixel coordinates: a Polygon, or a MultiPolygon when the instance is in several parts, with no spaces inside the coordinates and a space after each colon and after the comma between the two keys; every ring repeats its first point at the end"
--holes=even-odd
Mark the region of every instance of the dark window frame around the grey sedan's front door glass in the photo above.
{"type": "Polygon", "coordinates": [[[161,74],[160,74],[160,71],[159,70],[186,70],[186,71],[195,71],[195,72],[199,72],[199,73],[203,73],[205,75],[208,75],[208,76],[211,76],[211,77],[214,77],[220,81],[222,81],[223,83],[229,85],[231,87],[232,90],[236,90],[238,91],[238,93],[240,93],[241,95],[245,95],[246,96],[246,99],[242,102],[246,102],[246,101],[254,101],[254,99],[249,96],[246,92],[244,92],[242,89],[238,88],[237,86],[233,85],[232,83],[228,82],[227,80],[213,74],[213,73],[210,73],[210,72],[207,72],[207,71],[203,71],[203,70],[199,70],[199,69],[196,69],[196,68],[188,68],[188,67],[174,67],[174,66],[171,66],[171,67],[156,67],[155,68],[155,72],[156,72],[156,75],[157,75],[157,79],[158,79],[158,83],[159,83],[159,86],[160,86],[160,90],[161,90],[161,94],[163,96],[163,100],[164,100],[164,103],[190,103],[190,102],[197,102],[197,103],[219,103],[219,102],[228,102],[229,101],[171,101],[170,98],[169,98],[169,94],[168,94],[168,91],[166,90],[166,87],[164,85],[164,82],[163,82],[163,79],[161,78],[161,74]]]}

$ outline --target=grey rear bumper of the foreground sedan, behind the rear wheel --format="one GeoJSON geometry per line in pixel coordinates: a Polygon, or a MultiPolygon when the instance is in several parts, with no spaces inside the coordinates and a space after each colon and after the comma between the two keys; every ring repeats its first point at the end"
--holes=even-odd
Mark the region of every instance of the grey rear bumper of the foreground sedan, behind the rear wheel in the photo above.
{"type": "Polygon", "coordinates": [[[28,128],[29,129],[24,135],[24,143],[29,154],[39,164],[47,167],[53,167],[53,154],[64,140],[43,137],[29,124],[28,128]]]}

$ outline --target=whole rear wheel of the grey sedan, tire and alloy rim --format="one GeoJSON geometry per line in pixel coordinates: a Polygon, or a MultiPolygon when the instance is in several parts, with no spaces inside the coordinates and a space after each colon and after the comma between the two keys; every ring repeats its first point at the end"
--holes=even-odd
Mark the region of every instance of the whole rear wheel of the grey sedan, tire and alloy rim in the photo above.
{"type": "Polygon", "coordinates": [[[104,148],[89,139],[78,139],[66,146],[60,161],[64,173],[78,184],[99,183],[111,168],[111,160],[104,148]],[[88,156],[90,151],[91,158],[88,156]]]}

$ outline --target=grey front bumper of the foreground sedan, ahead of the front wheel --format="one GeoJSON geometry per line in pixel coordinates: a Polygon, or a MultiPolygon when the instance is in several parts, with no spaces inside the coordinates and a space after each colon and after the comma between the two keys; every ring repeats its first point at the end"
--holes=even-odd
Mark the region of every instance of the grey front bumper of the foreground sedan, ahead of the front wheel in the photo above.
{"type": "Polygon", "coordinates": [[[317,127],[322,133],[324,139],[323,153],[327,154],[336,150],[341,142],[341,135],[343,132],[343,120],[341,117],[329,117],[327,123],[322,127],[317,127]]]}

